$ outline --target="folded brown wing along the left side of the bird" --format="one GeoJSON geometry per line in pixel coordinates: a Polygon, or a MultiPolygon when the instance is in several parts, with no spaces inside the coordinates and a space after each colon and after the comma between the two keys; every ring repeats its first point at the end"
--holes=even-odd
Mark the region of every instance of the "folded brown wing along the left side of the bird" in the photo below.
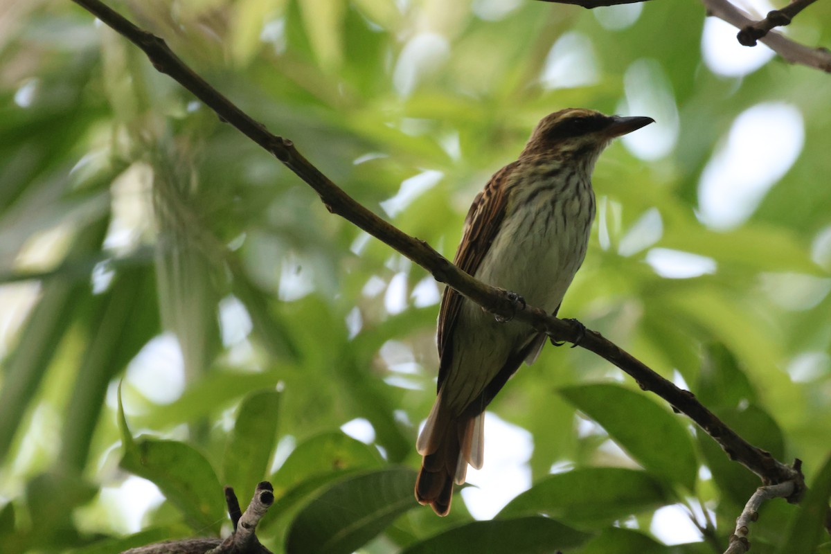
{"type": "MultiPolygon", "coordinates": [[[[484,185],[482,192],[476,195],[470,205],[467,217],[465,218],[465,230],[462,233],[462,242],[453,263],[463,272],[475,275],[479,269],[484,255],[490,249],[490,245],[496,238],[496,233],[502,226],[502,219],[505,214],[505,207],[508,203],[507,181],[516,168],[518,162],[508,164],[490,178],[488,184],[484,185]]],[[[463,297],[450,287],[445,287],[445,294],[441,298],[439,310],[439,383],[441,388],[445,380],[446,368],[450,360],[445,352],[450,355],[451,333],[454,328],[456,317],[462,305],[463,297]]]]}

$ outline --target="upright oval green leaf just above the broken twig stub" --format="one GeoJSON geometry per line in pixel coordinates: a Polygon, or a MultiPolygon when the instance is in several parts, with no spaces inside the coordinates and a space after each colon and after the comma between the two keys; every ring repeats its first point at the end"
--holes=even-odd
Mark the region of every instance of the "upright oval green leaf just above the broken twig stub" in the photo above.
{"type": "Polygon", "coordinates": [[[266,477],[277,439],[279,404],[280,393],[276,390],[260,390],[248,395],[239,406],[223,463],[225,483],[234,486],[239,498],[248,498],[266,477]]]}

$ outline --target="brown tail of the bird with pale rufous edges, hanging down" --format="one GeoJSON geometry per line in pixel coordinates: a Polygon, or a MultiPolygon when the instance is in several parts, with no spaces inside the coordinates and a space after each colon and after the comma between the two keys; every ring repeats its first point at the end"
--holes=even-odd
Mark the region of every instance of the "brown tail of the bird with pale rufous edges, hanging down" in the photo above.
{"type": "Polygon", "coordinates": [[[465,483],[469,463],[479,469],[484,462],[484,412],[475,417],[453,417],[442,405],[439,392],[416,448],[424,456],[416,479],[416,500],[446,516],[453,483],[465,483]]]}

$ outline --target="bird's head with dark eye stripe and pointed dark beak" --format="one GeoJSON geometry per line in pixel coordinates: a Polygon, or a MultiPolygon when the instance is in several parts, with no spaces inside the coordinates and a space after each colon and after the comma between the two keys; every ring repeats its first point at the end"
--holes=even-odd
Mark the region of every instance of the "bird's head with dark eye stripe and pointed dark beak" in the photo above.
{"type": "Polygon", "coordinates": [[[593,164],[612,139],[654,122],[651,117],[621,117],[566,108],[543,117],[531,133],[520,158],[553,154],[558,158],[583,159],[593,164]]]}

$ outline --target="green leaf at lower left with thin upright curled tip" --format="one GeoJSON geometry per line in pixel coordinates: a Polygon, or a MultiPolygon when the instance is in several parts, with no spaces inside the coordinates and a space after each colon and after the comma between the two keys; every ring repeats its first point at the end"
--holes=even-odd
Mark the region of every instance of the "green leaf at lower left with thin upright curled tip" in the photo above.
{"type": "Polygon", "coordinates": [[[225,520],[224,493],[208,460],[178,441],[133,439],[120,395],[118,417],[124,444],[120,466],[155,483],[194,531],[219,533],[225,520]]]}

